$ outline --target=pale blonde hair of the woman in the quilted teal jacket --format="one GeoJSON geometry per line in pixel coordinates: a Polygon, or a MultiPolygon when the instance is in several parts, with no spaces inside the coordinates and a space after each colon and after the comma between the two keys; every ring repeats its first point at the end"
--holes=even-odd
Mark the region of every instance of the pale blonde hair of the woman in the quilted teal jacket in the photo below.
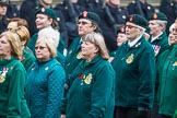
{"type": "Polygon", "coordinates": [[[51,58],[57,56],[57,45],[54,42],[54,39],[49,38],[49,37],[40,37],[37,39],[36,45],[39,43],[45,43],[47,48],[50,51],[51,58]]]}

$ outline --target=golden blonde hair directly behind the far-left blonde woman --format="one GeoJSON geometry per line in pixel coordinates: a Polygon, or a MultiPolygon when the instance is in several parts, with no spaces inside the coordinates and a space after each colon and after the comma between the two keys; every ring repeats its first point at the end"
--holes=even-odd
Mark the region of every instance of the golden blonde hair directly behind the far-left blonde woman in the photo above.
{"type": "Polygon", "coordinates": [[[30,32],[25,26],[19,26],[14,30],[12,30],[12,32],[16,33],[21,39],[21,42],[25,40],[25,46],[28,43],[28,39],[31,38],[30,32]]]}

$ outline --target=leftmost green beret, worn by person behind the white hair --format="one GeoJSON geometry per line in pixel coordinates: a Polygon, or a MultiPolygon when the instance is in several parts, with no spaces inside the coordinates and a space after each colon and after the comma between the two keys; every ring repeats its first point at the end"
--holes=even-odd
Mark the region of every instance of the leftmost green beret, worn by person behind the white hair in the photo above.
{"type": "Polygon", "coordinates": [[[36,14],[45,14],[48,15],[49,17],[51,17],[52,20],[56,20],[56,12],[52,9],[49,8],[39,8],[36,10],[35,15],[36,14]]]}

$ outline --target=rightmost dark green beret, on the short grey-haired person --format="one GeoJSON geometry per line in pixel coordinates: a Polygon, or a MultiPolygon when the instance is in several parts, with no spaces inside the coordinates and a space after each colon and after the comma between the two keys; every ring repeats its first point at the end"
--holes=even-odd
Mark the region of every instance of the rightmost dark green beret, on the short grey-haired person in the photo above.
{"type": "Polygon", "coordinates": [[[167,16],[162,12],[157,12],[157,13],[152,13],[149,17],[149,21],[150,20],[167,21],[167,16]]]}

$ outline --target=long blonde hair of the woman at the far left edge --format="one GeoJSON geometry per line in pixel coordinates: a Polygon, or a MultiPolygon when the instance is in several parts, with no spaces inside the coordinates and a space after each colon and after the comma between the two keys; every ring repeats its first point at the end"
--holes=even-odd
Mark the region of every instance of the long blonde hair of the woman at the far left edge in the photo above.
{"type": "Polygon", "coordinates": [[[7,39],[9,40],[11,45],[11,48],[12,48],[11,55],[16,57],[17,59],[21,59],[22,58],[22,48],[21,48],[22,44],[21,44],[21,40],[17,34],[8,31],[8,32],[3,32],[0,35],[0,38],[3,36],[7,37],[7,39]]]}

